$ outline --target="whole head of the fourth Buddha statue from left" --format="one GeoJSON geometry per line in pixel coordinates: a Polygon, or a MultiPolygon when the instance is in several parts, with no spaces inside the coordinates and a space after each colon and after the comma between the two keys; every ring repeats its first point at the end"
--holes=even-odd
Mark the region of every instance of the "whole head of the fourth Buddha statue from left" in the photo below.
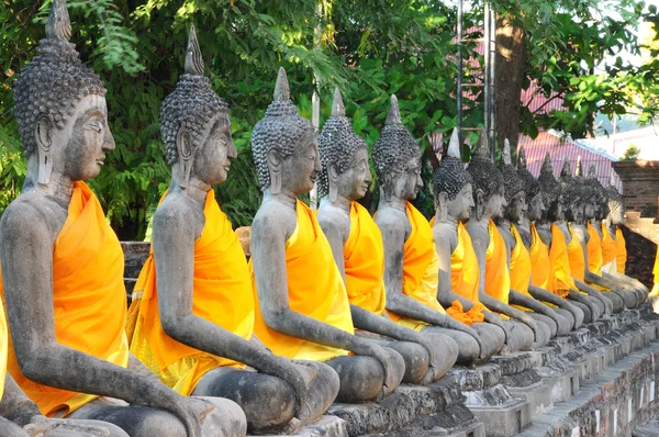
{"type": "Polygon", "coordinates": [[[371,182],[368,148],[346,117],[338,88],[334,91],[332,116],[319,135],[322,169],[319,178],[319,198],[338,197],[354,201],[366,195],[371,182]]]}

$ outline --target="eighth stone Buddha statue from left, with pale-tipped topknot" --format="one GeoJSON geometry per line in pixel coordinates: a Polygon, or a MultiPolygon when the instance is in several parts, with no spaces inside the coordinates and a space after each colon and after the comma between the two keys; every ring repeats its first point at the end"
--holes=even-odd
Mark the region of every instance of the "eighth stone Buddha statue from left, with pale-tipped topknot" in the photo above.
{"type": "MultiPolygon", "coordinates": [[[[561,315],[540,301],[543,299],[555,300],[556,295],[532,284],[533,264],[530,254],[518,231],[522,220],[529,209],[526,203],[526,184],[517,175],[516,168],[513,167],[511,145],[507,139],[504,142],[499,170],[503,176],[506,206],[503,216],[496,218],[495,223],[506,244],[510,259],[511,292],[509,302],[517,310],[526,312],[538,324],[546,325],[551,333],[551,337],[556,336],[557,333],[565,335],[570,332],[571,324],[566,323],[561,315]]],[[[539,210],[543,206],[541,199],[538,195],[532,199],[530,202],[534,210],[539,210]]]]}

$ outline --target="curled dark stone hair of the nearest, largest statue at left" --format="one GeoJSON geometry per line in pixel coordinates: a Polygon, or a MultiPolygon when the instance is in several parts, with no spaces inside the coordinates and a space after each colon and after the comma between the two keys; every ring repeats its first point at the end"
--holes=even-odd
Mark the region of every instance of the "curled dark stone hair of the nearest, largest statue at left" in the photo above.
{"type": "Polygon", "coordinates": [[[66,0],[53,0],[46,37],[40,41],[34,59],[22,69],[14,86],[15,117],[25,157],[36,150],[34,128],[41,116],[63,130],[82,98],[105,96],[103,82],[82,65],[76,46],[69,43],[70,36],[66,0]]]}

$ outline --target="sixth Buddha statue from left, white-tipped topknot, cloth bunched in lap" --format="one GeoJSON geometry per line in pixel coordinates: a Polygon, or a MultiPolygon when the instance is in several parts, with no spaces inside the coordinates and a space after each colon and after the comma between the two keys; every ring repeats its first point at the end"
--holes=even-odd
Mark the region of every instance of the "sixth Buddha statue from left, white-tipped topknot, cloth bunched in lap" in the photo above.
{"type": "Polygon", "coordinates": [[[433,237],[439,258],[437,301],[455,320],[462,322],[485,339],[483,358],[498,354],[505,344],[503,320],[488,311],[479,299],[478,260],[471,237],[465,227],[473,208],[471,175],[460,157],[458,131],[454,131],[447,155],[433,175],[436,215],[433,237]]]}

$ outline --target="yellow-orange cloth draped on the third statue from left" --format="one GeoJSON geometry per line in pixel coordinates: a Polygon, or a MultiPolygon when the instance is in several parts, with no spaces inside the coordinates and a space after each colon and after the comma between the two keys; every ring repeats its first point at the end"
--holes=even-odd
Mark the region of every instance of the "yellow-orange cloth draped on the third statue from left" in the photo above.
{"type": "MultiPolygon", "coordinates": [[[[286,243],[286,272],[291,311],[354,334],[348,293],[334,262],[327,237],[309,206],[298,200],[297,227],[286,243]]],[[[254,265],[249,261],[254,300],[258,292],[254,265]]],[[[255,305],[254,332],[275,352],[288,358],[326,361],[348,355],[347,350],[313,344],[279,333],[264,321],[259,304],[255,305]]]]}

